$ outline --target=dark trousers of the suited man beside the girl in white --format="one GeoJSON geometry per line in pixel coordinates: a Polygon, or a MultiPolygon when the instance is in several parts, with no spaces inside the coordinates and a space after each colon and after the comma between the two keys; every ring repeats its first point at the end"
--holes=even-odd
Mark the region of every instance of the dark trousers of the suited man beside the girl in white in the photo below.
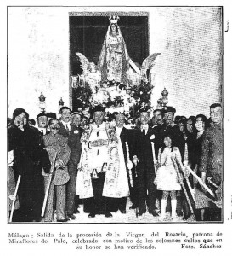
{"type": "Polygon", "coordinates": [[[156,208],[156,186],[154,185],[154,167],[150,166],[150,161],[141,161],[137,170],[139,212],[146,211],[146,204],[148,206],[149,212],[153,212],[156,208]]]}

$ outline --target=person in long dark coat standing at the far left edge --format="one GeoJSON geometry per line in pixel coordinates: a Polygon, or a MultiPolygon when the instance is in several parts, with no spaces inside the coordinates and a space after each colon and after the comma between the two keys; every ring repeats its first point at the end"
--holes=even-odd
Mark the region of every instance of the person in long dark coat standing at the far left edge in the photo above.
{"type": "Polygon", "coordinates": [[[36,128],[27,125],[28,113],[16,108],[14,125],[8,129],[8,147],[14,150],[15,179],[21,175],[18,190],[20,200],[20,221],[40,221],[44,188],[42,167],[49,172],[48,153],[42,146],[42,139],[36,128]]]}

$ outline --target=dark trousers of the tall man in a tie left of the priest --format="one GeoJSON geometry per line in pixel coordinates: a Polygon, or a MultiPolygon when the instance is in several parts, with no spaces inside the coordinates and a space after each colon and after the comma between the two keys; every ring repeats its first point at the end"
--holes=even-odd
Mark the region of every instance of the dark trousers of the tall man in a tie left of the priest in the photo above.
{"type": "Polygon", "coordinates": [[[76,202],[76,176],[77,166],[71,161],[68,164],[70,180],[66,184],[66,211],[68,214],[73,214],[76,202]]]}

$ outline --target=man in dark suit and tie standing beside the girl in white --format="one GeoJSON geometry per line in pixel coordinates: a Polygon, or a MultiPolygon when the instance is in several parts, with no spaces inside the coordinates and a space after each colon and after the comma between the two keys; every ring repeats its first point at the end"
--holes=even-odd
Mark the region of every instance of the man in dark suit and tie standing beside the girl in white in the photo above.
{"type": "Polygon", "coordinates": [[[156,213],[156,186],[154,184],[155,169],[152,154],[151,142],[154,141],[154,131],[148,125],[149,112],[147,109],[141,109],[139,120],[141,122],[140,129],[136,128],[136,155],[133,156],[133,163],[138,165],[138,193],[139,193],[139,216],[148,211],[153,216],[156,213]]]}

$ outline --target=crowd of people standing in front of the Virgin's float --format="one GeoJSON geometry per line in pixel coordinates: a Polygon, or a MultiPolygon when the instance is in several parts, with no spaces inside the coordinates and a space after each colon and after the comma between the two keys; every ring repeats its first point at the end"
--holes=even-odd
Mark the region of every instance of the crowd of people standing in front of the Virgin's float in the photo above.
{"type": "Polygon", "coordinates": [[[117,211],[123,218],[131,202],[137,216],[149,212],[159,221],[166,212],[173,221],[221,221],[222,106],[209,112],[210,119],[175,116],[166,107],[150,116],[142,108],[128,127],[124,113],[109,122],[101,106],[90,119],[62,107],[59,117],[39,113],[37,122],[15,109],[8,124],[9,220],[67,222],[83,214],[80,204],[89,218],[117,211]]]}

